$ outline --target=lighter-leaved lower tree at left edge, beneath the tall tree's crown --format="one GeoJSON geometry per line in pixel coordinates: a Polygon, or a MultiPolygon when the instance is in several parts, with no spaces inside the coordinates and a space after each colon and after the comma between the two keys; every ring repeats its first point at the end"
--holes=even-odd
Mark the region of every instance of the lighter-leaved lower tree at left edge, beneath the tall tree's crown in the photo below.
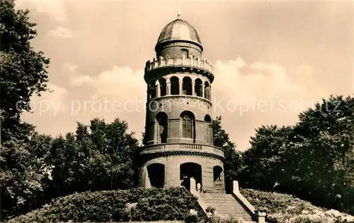
{"type": "Polygon", "coordinates": [[[1,216],[13,217],[42,205],[49,173],[45,159],[52,138],[34,134],[1,145],[1,216]]]}

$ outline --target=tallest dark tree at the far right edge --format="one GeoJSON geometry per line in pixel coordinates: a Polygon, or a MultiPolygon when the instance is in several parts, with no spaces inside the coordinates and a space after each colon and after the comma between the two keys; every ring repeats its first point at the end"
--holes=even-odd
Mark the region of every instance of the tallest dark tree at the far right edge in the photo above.
{"type": "Polygon", "coordinates": [[[302,112],[295,135],[307,155],[302,166],[311,167],[304,183],[312,187],[313,202],[353,214],[354,97],[331,95],[302,112]]]}

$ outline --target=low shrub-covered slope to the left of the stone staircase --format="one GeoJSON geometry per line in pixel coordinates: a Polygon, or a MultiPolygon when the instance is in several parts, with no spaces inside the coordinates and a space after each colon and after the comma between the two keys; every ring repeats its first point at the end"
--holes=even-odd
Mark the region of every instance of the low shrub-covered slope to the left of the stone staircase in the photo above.
{"type": "Polygon", "coordinates": [[[8,223],[184,220],[190,209],[199,209],[198,200],[185,188],[133,188],[74,193],[8,223]]]}

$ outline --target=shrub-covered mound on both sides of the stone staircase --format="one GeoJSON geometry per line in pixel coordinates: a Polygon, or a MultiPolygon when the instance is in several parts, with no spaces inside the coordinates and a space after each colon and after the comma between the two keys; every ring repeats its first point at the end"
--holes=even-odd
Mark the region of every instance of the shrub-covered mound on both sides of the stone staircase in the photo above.
{"type": "MultiPolygon", "coordinates": [[[[241,193],[256,209],[267,211],[269,223],[354,223],[353,216],[316,207],[292,195],[251,189],[241,189],[241,193]]],[[[11,219],[8,223],[181,222],[188,216],[190,209],[199,210],[199,206],[197,199],[185,188],[134,188],[75,193],[52,200],[41,209],[11,219]]],[[[199,221],[204,222],[205,218],[199,221]]]]}

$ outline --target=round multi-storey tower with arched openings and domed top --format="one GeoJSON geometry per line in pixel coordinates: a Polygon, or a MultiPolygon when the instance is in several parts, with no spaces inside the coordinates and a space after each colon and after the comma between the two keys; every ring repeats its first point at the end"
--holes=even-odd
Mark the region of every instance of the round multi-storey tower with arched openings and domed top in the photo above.
{"type": "Polygon", "coordinates": [[[139,186],[190,188],[224,193],[224,151],[213,145],[212,65],[202,58],[197,30],[178,18],[157,40],[147,61],[147,114],[139,150],[139,186]]]}

